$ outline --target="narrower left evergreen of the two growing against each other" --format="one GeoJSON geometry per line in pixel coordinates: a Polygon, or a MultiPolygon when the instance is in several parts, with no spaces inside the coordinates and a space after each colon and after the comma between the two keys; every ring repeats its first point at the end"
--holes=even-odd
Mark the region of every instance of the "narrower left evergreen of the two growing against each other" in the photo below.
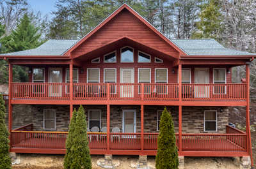
{"type": "Polygon", "coordinates": [[[76,117],[77,117],[77,111],[76,109],[74,110],[72,114],[72,119],[70,121],[70,124],[68,126],[68,138],[66,140],[66,154],[65,154],[65,159],[64,159],[64,168],[70,168],[70,165],[72,163],[72,160],[74,158],[74,154],[72,154],[71,147],[73,143],[73,138],[74,138],[74,130],[76,128],[76,117]]]}

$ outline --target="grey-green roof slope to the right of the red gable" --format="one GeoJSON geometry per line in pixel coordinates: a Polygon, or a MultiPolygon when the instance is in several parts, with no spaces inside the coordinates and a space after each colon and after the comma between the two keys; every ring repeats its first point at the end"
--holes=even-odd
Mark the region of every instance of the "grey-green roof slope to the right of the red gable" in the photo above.
{"type": "Polygon", "coordinates": [[[214,39],[171,40],[188,55],[256,55],[223,47],[214,39]]]}

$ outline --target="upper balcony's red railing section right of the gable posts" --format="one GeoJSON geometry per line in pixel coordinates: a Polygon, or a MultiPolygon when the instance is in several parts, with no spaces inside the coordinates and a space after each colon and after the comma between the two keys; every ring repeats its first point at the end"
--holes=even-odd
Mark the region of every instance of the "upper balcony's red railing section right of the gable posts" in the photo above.
{"type": "Polygon", "coordinates": [[[246,99],[246,84],[182,84],[182,99],[246,99]]]}

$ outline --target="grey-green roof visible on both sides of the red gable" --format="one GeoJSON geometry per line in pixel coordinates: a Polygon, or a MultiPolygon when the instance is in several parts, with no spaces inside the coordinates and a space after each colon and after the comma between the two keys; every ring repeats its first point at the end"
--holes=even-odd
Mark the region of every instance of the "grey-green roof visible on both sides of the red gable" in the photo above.
{"type": "MultiPolygon", "coordinates": [[[[214,39],[171,41],[188,55],[256,55],[225,48],[214,39]]],[[[34,49],[1,55],[62,55],[76,42],[77,40],[48,40],[40,45],[40,47],[34,49]]]]}

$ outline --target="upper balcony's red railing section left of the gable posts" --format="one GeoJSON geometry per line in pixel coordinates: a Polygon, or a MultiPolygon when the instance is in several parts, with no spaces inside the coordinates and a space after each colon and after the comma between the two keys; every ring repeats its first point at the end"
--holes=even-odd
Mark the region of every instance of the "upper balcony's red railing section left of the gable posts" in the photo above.
{"type": "Polygon", "coordinates": [[[12,83],[12,98],[68,99],[68,89],[68,83],[12,83]]]}

